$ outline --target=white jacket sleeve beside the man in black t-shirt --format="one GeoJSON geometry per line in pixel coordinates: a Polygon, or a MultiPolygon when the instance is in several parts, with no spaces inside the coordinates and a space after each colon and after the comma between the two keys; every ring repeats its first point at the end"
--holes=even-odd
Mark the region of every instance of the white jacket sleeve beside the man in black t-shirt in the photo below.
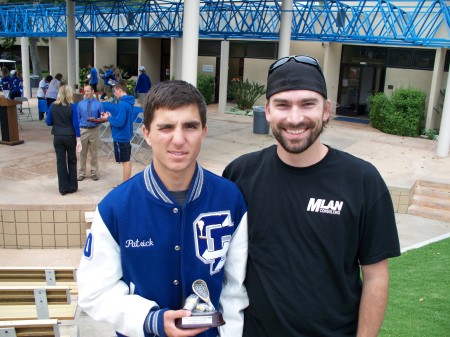
{"type": "Polygon", "coordinates": [[[248,234],[247,213],[233,235],[225,262],[225,275],[219,306],[226,322],[219,327],[221,337],[242,336],[244,309],[248,306],[244,279],[247,269],[248,234]]]}

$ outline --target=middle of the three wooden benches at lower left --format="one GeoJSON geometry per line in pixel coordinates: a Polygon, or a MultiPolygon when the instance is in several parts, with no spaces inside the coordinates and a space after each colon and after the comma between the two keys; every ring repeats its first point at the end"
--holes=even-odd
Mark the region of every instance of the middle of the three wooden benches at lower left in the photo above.
{"type": "Polygon", "coordinates": [[[76,308],[76,304],[71,302],[69,287],[0,286],[0,321],[72,320],[76,308]]]}

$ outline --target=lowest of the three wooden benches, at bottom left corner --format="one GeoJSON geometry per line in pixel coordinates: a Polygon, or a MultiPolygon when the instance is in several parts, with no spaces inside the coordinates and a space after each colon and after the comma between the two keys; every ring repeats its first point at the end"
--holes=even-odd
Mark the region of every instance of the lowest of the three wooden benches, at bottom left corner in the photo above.
{"type": "Polygon", "coordinates": [[[0,336],[60,337],[58,320],[21,320],[0,322],[0,336]]]}

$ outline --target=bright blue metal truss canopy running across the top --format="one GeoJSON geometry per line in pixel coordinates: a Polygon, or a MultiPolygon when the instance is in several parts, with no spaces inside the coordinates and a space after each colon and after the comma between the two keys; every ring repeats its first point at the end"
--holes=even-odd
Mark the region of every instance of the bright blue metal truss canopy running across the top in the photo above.
{"type": "MultiPolygon", "coordinates": [[[[77,37],[180,37],[184,1],[76,1],[77,37]]],[[[278,40],[281,1],[201,0],[201,38],[278,40]]],[[[0,37],[65,37],[66,4],[0,5],[0,37]]],[[[450,47],[445,0],[295,1],[292,40],[450,47]]]]}

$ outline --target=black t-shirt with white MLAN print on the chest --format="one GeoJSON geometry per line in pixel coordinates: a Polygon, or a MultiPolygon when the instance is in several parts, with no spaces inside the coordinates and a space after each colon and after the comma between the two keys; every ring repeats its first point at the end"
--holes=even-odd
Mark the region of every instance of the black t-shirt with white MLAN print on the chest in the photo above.
{"type": "Polygon", "coordinates": [[[250,306],[244,336],[353,336],[360,264],[400,255],[389,191],[376,168],[329,148],[306,168],[276,146],[224,171],[248,203],[250,306]]]}

